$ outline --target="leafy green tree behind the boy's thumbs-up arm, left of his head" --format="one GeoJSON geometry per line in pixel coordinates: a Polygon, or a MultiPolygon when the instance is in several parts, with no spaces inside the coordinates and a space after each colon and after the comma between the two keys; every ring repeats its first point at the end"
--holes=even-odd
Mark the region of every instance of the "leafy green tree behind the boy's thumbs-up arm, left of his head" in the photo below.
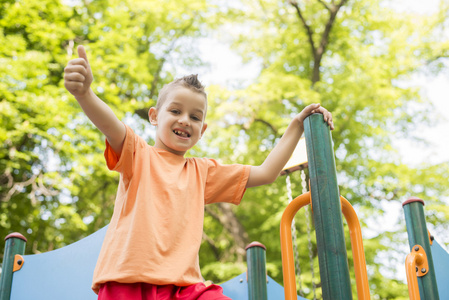
{"type": "Polygon", "coordinates": [[[88,47],[99,96],[143,134],[157,90],[174,76],[172,61],[199,63],[195,46],[181,41],[202,35],[208,7],[65,3],[2,1],[0,9],[0,233],[26,234],[27,253],[79,240],[112,213],[118,178],[105,168],[104,137],[62,84],[76,45],[88,47]]]}

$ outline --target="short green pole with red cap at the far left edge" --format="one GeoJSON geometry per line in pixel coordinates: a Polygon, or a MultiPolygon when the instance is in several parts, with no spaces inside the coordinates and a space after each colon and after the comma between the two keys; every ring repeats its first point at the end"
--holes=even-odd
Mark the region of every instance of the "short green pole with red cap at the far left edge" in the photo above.
{"type": "Polygon", "coordinates": [[[0,279],[0,300],[9,300],[11,297],[12,269],[16,254],[25,253],[27,239],[20,233],[11,233],[5,238],[5,252],[2,264],[2,278],[0,279]]]}

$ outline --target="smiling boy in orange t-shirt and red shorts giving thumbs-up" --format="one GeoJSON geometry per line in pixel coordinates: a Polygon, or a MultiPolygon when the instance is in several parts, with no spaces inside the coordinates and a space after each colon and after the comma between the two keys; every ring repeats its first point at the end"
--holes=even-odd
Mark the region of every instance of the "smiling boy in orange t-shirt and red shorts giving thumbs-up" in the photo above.
{"type": "Polygon", "coordinates": [[[319,104],[307,106],[260,166],[185,158],[207,129],[207,95],[196,75],[160,91],[148,113],[156,126],[156,141],[150,146],[93,93],[82,46],[78,54],[64,70],[65,87],[106,136],[108,168],[120,173],[94,272],[92,288],[98,299],[229,299],[221,287],[202,283],[198,252],[204,205],[239,204],[246,188],[273,182],[304,131],[304,119],[323,113],[333,129],[331,114],[319,104]]]}

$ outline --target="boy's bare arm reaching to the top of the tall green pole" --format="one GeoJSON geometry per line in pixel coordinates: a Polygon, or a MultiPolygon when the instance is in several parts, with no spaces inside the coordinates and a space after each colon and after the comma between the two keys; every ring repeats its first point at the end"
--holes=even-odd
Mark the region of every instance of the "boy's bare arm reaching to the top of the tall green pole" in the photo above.
{"type": "Polygon", "coordinates": [[[264,185],[276,180],[304,133],[304,119],[313,113],[322,113],[324,121],[329,124],[331,129],[334,129],[332,114],[327,109],[321,107],[320,104],[307,106],[291,121],[284,135],[262,165],[251,167],[246,187],[264,185]]]}

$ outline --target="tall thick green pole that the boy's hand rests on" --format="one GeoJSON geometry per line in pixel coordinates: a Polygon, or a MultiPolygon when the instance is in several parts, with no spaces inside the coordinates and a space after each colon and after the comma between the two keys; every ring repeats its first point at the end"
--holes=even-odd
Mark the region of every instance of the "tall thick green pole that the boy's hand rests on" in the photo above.
{"type": "Polygon", "coordinates": [[[323,299],[352,299],[340,192],[329,126],[322,114],[304,121],[323,299]]]}

